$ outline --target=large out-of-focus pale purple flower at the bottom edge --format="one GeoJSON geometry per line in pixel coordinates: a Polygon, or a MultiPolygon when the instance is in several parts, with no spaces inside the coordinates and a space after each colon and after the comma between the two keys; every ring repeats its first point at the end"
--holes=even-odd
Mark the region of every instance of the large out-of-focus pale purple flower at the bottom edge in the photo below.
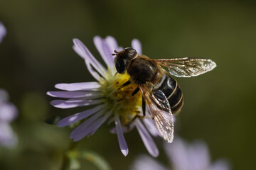
{"type": "MultiPolygon", "coordinates": [[[[210,155],[206,143],[195,141],[188,145],[176,137],[170,145],[165,144],[164,149],[174,170],[228,170],[230,165],[225,159],[218,159],[210,164],[210,155]]],[[[168,170],[156,160],[146,155],[139,156],[131,167],[131,170],[168,170]]]]}

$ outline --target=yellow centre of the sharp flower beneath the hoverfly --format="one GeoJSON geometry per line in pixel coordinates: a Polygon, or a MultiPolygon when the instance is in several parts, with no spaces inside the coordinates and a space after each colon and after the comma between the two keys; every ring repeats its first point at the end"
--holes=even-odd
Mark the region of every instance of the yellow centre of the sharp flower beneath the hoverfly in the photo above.
{"type": "Polygon", "coordinates": [[[142,94],[138,91],[132,96],[132,92],[137,89],[133,83],[119,89],[129,80],[128,74],[108,74],[107,78],[100,82],[104,102],[114,114],[122,117],[122,123],[129,123],[135,115],[141,113],[139,108],[142,107],[142,94]]]}

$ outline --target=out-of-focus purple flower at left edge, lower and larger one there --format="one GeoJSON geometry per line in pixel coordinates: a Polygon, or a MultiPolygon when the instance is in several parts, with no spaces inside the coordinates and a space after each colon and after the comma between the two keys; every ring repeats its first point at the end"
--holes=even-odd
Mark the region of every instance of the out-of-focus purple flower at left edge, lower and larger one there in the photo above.
{"type": "Polygon", "coordinates": [[[17,117],[16,107],[9,103],[8,94],[4,89],[0,89],[0,145],[4,147],[14,147],[17,137],[11,129],[11,121],[17,117]]]}

